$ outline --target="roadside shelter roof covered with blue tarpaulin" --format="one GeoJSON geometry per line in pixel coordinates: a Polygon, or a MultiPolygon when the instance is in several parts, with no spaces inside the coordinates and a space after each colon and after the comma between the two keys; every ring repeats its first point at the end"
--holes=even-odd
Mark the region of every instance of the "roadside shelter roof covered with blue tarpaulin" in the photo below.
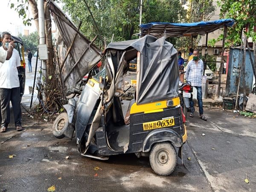
{"type": "Polygon", "coordinates": [[[213,21],[201,21],[197,23],[147,23],[140,25],[142,36],[153,35],[157,38],[166,35],[168,37],[205,35],[221,27],[231,27],[235,21],[233,19],[221,19],[213,21]]]}

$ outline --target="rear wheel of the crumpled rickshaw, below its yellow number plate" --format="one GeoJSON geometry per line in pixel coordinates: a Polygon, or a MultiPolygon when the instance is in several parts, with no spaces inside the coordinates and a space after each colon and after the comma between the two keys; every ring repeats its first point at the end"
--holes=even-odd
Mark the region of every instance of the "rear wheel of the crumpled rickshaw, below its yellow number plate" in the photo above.
{"type": "Polygon", "coordinates": [[[177,153],[171,143],[157,143],[149,154],[151,168],[157,175],[170,175],[177,165],[177,153]]]}

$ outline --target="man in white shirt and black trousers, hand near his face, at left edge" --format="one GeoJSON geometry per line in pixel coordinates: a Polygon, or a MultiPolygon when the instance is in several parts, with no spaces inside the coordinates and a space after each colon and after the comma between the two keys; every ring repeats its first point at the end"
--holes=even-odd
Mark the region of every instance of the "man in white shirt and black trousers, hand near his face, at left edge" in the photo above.
{"type": "MultiPolygon", "coordinates": [[[[13,47],[12,36],[9,32],[3,32],[1,35],[4,49],[7,51],[9,46],[13,47]]],[[[2,115],[2,124],[0,132],[6,132],[10,123],[10,101],[14,113],[16,131],[21,131],[21,108],[20,108],[20,82],[17,67],[20,66],[19,53],[16,49],[12,50],[12,56],[9,60],[0,62],[0,106],[2,115]]]]}

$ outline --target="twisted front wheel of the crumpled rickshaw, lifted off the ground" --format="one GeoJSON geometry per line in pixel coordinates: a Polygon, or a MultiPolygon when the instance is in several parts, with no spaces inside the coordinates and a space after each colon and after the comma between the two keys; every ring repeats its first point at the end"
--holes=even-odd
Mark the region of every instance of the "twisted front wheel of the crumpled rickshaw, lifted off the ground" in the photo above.
{"type": "Polygon", "coordinates": [[[65,137],[64,132],[67,130],[69,125],[67,113],[59,114],[52,126],[52,134],[58,139],[65,137]]]}

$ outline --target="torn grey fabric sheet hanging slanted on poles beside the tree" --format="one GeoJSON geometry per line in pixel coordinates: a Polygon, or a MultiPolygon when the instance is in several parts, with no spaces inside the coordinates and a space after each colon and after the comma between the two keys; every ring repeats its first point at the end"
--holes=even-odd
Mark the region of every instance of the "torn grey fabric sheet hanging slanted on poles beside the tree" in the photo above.
{"type": "MultiPolygon", "coordinates": [[[[65,49],[58,49],[64,51],[62,55],[65,57],[67,49],[72,44],[76,35],[73,47],[70,50],[70,59],[68,58],[64,63],[64,67],[61,71],[61,77],[64,82],[66,93],[73,91],[73,87],[86,75],[102,58],[102,52],[100,49],[90,44],[90,41],[81,32],[77,31],[77,27],[74,23],[59,9],[59,7],[52,1],[48,1],[49,10],[52,17],[55,20],[56,27],[64,42],[65,49]],[[68,73],[70,75],[68,75],[68,73]]],[[[57,38],[56,38],[57,39],[57,38]]],[[[63,61],[64,58],[60,58],[63,61]]],[[[62,62],[60,63],[60,67],[62,62]]]]}

